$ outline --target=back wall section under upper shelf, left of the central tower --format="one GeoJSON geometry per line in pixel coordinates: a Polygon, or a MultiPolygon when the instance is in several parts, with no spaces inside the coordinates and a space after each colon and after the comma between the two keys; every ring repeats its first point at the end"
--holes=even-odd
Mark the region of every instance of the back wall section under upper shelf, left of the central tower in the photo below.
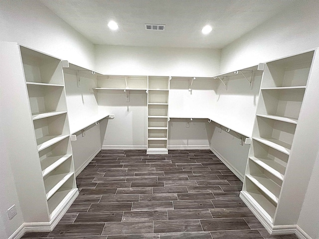
{"type": "Polygon", "coordinates": [[[127,102],[123,91],[99,91],[99,111],[114,114],[108,120],[103,149],[146,149],[147,146],[147,94],[130,92],[127,102]]]}

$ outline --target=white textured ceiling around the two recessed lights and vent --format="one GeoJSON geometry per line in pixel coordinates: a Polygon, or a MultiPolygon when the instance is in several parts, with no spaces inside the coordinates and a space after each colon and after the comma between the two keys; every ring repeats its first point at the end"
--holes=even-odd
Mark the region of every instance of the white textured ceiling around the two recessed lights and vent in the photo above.
{"type": "Polygon", "coordinates": [[[301,0],[40,0],[94,44],[223,48],[301,0]],[[119,24],[111,31],[107,23],[119,24]],[[166,24],[164,31],[144,23],[166,24]],[[201,28],[210,24],[208,35],[201,28]]]}

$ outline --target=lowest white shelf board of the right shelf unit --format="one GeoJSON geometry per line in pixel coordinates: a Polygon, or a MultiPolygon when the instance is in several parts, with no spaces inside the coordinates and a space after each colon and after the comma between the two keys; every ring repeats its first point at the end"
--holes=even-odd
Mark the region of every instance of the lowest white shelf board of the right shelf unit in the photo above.
{"type": "Polygon", "coordinates": [[[260,212],[265,218],[273,223],[276,207],[271,202],[258,192],[241,191],[241,194],[246,200],[248,200],[255,210],[260,212]]]}

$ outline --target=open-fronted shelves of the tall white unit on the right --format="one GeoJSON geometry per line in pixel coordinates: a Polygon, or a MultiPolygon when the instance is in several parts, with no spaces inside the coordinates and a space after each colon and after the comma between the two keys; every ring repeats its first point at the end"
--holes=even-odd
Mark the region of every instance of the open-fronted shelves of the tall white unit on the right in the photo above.
{"type": "Polygon", "coordinates": [[[291,159],[294,136],[313,58],[311,51],[268,62],[262,78],[240,197],[270,233],[282,225],[276,221],[285,205],[281,194],[292,186],[285,182],[285,175],[295,164],[291,159]]]}

